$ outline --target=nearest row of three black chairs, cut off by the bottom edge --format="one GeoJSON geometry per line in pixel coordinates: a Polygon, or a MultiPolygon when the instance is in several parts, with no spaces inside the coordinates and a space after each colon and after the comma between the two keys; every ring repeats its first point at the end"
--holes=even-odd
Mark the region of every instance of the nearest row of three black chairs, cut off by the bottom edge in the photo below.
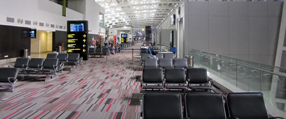
{"type": "Polygon", "coordinates": [[[219,93],[149,93],[142,108],[143,119],[284,119],[269,118],[261,93],[229,93],[225,104],[219,93]]]}

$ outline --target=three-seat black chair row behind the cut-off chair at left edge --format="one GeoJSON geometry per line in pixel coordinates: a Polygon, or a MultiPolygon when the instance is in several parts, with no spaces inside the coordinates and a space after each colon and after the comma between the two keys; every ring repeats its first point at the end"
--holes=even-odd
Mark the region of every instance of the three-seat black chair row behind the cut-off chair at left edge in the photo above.
{"type": "Polygon", "coordinates": [[[18,74],[22,75],[57,75],[59,59],[56,58],[24,58],[18,57],[14,65],[9,68],[18,68],[18,74]]]}

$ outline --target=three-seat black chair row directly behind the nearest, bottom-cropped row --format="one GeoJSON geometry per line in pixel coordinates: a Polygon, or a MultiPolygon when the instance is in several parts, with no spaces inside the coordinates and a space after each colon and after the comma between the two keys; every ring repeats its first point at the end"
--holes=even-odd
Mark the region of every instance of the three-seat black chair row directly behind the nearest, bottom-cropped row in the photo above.
{"type": "Polygon", "coordinates": [[[205,90],[211,91],[213,79],[206,68],[143,68],[141,90],[205,90]],[[155,84],[155,85],[154,85],[155,84]],[[174,85],[173,85],[174,84],[174,85]]]}

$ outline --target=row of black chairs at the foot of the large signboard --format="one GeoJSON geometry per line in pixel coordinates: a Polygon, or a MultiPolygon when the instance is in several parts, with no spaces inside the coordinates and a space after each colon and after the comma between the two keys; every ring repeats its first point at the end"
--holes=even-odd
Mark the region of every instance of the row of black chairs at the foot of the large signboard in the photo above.
{"type": "MultiPolygon", "coordinates": [[[[46,58],[57,58],[59,59],[59,70],[63,71],[64,65],[65,66],[71,66],[70,70],[73,70],[76,68],[76,66],[79,66],[82,64],[83,57],[80,58],[79,53],[48,53],[46,58]]],[[[17,60],[16,60],[17,62],[17,60]]]]}

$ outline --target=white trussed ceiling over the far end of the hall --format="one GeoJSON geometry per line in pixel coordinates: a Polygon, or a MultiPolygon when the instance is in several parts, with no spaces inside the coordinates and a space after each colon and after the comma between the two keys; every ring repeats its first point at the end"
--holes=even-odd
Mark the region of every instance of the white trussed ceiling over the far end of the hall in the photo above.
{"type": "MultiPolygon", "coordinates": [[[[95,0],[105,8],[107,28],[157,27],[182,0],[95,0]]],[[[100,18],[102,19],[102,17],[100,18]]]]}

